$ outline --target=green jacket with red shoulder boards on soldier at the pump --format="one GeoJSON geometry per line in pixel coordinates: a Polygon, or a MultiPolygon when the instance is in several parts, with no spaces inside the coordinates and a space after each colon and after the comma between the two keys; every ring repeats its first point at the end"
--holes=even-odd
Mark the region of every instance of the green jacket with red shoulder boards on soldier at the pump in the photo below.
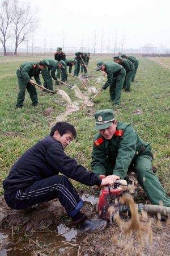
{"type": "Polygon", "coordinates": [[[147,145],[149,143],[142,141],[133,126],[129,123],[117,122],[116,133],[111,141],[105,139],[100,133],[96,134],[92,150],[92,171],[98,176],[105,175],[107,164],[111,163],[112,169],[109,175],[117,175],[124,179],[131,162],[139,154],[144,154],[144,146],[147,145]]]}

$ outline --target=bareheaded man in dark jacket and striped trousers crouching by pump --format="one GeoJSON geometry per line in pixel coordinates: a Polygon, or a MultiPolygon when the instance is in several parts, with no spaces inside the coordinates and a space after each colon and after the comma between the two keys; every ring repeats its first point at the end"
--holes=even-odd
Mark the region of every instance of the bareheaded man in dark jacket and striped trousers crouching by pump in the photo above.
{"type": "Polygon", "coordinates": [[[72,125],[58,122],[48,137],[24,152],[3,181],[5,200],[10,208],[25,209],[58,198],[74,225],[83,223],[86,230],[99,229],[104,225],[103,220],[86,220],[86,214],[80,212],[84,202],[67,177],[85,185],[100,186],[113,184],[113,176],[101,180],[97,174],[88,172],[65,154],[65,148],[75,137],[72,125]]]}

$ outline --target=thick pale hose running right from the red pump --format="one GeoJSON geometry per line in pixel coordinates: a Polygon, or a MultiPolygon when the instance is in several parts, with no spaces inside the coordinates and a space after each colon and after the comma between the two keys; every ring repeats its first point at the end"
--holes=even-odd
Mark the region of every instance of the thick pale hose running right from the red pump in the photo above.
{"type": "Polygon", "coordinates": [[[163,207],[160,205],[152,205],[152,204],[139,204],[138,205],[139,208],[139,212],[141,212],[141,210],[145,210],[147,213],[150,214],[156,214],[156,213],[160,213],[161,215],[164,216],[170,216],[170,207],[163,207]]]}

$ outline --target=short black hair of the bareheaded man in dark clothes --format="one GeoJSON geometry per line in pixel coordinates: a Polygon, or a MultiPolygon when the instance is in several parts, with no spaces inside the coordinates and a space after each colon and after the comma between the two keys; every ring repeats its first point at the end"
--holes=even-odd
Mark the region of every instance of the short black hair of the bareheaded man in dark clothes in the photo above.
{"type": "Polygon", "coordinates": [[[53,136],[55,131],[58,131],[61,136],[65,133],[72,133],[73,137],[76,138],[76,130],[73,125],[70,125],[70,123],[57,122],[56,125],[52,127],[50,136],[53,136]]]}

